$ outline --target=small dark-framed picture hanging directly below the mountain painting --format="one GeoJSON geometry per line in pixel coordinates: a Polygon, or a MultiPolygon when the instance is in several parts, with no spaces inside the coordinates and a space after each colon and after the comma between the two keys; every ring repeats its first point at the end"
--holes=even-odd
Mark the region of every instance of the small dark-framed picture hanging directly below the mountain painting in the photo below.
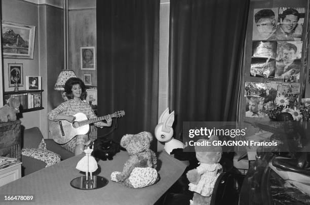
{"type": "Polygon", "coordinates": [[[17,82],[19,86],[24,85],[23,80],[23,64],[22,63],[9,63],[9,87],[15,87],[17,82]]]}

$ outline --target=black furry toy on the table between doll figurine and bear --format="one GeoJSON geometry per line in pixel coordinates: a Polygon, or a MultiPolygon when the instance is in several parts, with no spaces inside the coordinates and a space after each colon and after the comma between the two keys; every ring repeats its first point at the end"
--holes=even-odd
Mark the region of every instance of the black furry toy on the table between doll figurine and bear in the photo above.
{"type": "Polygon", "coordinates": [[[94,151],[92,152],[92,156],[103,161],[106,161],[106,159],[112,160],[113,156],[120,152],[120,150],[121,145],[119,143],[106,138],[98,138],[94,141],[94,151]]]}

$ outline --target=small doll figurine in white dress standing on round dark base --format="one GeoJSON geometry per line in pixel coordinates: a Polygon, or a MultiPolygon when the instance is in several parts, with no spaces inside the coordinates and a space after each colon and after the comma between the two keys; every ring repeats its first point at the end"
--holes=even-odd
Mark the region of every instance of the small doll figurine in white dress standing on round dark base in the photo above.
{"type": "Polygon", "coordinates": [[[92,182],[92,174],[98,169],[97,161],[91,155],[93,149],[94,145],[92,148],[87,147],[87,149],[84,150],[86,155],[78,162],[78,165],[76,165],[76,169],[86,172],[86,183],[92,182]],[[90,173],[90,180],[88,180],[88,173],[90,173]]]}

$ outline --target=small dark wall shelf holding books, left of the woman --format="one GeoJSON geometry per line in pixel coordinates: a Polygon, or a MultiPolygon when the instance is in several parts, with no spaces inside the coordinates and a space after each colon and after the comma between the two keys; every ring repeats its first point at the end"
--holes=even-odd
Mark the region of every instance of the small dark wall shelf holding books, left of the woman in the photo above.
{"type": "Polygon", "coordinates": [[[21,106],[20,112],[31,112],[36,110],[42,110],[42,92],[43,90],[31,90],[31,91],[10,91],[4,92],[4,104],[11,97],[19,100],[21,106]]]}

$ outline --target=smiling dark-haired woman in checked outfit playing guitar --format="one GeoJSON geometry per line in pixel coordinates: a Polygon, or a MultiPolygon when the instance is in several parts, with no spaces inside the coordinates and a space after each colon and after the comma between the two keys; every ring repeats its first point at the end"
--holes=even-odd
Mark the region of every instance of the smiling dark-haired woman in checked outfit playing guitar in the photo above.
{"type": "MultiPolygon", "coordinates": [[[[78,112],[86,114],[88,118],[96,117],[91,106],[83,101],[86,98],[86,87],[80,78],[69,78],[65,83],[64,90],[68,100],[48,113],[48,118],[50,120],[67,120],[73,123],[74,127],[76,122],[74,122],[75,117],[72,115],[78,112]]],[[[110,116],[106,119],[106,123],[103,121],[94,123],[94,125],[99,128],[110,127],[111,124],[112,119],[110,116]]],[[[88,140],[88,135],[76,135],[72,140],[63,144],[62,146],[70,152],[74,152],[75,155],[78,155],[83,153],[84,144],[88,140]]]]}

